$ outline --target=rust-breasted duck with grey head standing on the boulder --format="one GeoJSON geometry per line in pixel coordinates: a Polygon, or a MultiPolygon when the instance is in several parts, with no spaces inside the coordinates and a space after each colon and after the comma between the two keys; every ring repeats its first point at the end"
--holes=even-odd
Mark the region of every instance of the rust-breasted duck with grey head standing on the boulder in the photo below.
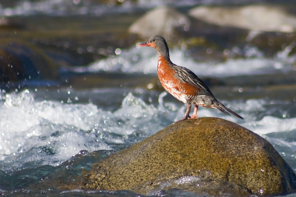
{"type": "Polygon", "coordinates": [[[219,102],[204,82],[191,70],[170,61],[168,45],[163,37],[152,36],[147,42],[139,44],[139,46],[149,46],[158,51],[157,74],[161,85],[168,93],[187,105],[184,118],[179,121],[197,118],[199,106],[218,109],[224,114],[230,115],[229,113],[231,113],[235,117],[243,119],[219,102]],[[192,105],[194,105],[194,110],[192,116],[190,116],[192,105]]]}

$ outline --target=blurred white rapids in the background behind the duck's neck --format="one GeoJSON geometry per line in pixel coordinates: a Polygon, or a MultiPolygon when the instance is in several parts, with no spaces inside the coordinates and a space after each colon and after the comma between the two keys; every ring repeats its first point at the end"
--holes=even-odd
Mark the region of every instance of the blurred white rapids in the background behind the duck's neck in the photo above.
{"type": "MultiPolygon", "coordinates": [[[[170,59],[174,64],[184,66],[198,76],[223,78],[239,75],[273,74],[277,72],[287,73],[294,69],[293,63],[296,60],[296,56],[289,56],[289,51],[293,47],[295,46],[291,43],[283,51],[278,52],[274,58],[263,57],[258,52],[258,49],[249,47],[245,49],[245,56],[247,58],[229,58],[227,61],[217,64],[196,62],[190,57],[189,51],[182,51],[175,48],[170,50],[170,59]]],[[[130,49],[123,50],[119,55],[96,61],[87,67],[75,68],[75,71],[156,75],[157,59],[158,53],[155,49],[134,46],[130,49]]]]}

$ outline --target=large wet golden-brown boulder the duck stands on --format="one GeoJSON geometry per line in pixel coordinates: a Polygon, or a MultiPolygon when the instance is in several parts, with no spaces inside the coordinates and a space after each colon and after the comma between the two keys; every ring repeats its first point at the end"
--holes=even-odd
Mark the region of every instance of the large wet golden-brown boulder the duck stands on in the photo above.
{"type": "Polygon", "coordinates": [[[197,118],[173,123],[96,163],[83,187],[235,196],[290,191],[295,181],[291,167],[262,137],[220,118],[197,118]]]}

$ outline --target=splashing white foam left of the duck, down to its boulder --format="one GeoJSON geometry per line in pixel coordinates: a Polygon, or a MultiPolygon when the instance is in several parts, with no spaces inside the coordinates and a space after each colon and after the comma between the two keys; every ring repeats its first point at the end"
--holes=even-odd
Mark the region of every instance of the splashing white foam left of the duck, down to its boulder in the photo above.
{"type": "Polygon", "coordinates": [[[128,135],[151,135],[173,121],[163,117],[163,107],[146,104],[132,93],[113,112],[92,103],[35,101],[29,90],[2,93],[1,98],[0,166],[5,171],[59,165],[80,150],[111,150],[114,143],[127,146],[132,143],[125,141],[128,135]]]}

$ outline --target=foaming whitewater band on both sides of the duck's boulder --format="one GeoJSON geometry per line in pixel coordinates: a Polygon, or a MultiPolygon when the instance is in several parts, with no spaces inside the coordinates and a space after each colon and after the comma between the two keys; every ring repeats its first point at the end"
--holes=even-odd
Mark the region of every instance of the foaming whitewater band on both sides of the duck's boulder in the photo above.
{"type": "MultiPolygon", "coordinates": [[[[128,92],[116,110],[106,110],[93,103],[66,103],[42,100],[40,95],[52,94],[28,89],[22,92],[1,93],[0,102],[0,166],[1,170],[32,168],[41,165],[59,165],[80,150],[120,150],[145,139],[184,116],[186,106],[166,101],[166,92],[150,93],[152,100],[144,102],[139,92],[128,92]],[[139,138],[135,138],[139,136],[139,138]]],[[[60,94],[67,89],[59,90],[60,94]]],[[[75,96],[97,94],[112,97],[116,91],[104,89],[75,92],[75,96]]],[[[89,99],[85,99],[89,100],[89,99]]],[[[274,108],[295,109],[296,102],[273,102],[250,99],[221,101],[244,117],[244,120],[225,115],[215,109],[199,108],[199,117],[219,117],[238,123],[261,136],[273,145],[284,149],[285,155],[296,163],[296,146],[286,135],[296,132],[296,118],[292,111],[274,112],[274,108]],[[277,106],[278,105],[278,106],[277,106]],[[284,106],[284,107],[283,107],[284,106]],[[268,115],[272,114],[272,115],[268,115]],[[271,133],[283,133],[280,137],[271,133]],[[293,156],[294,155],[294,156],[293,156]],[[294,160],[293,160],[294,158],[294,160]]],[[[292,165],[293,169],[296,165],[292,165]]]]}

